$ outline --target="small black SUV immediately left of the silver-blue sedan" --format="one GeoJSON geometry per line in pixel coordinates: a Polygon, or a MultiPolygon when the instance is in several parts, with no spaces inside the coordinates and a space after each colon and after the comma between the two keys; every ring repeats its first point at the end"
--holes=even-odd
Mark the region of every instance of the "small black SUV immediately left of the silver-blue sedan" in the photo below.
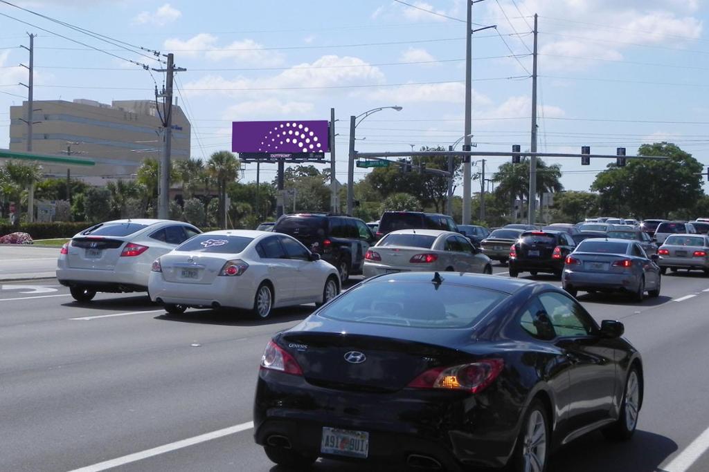
{"type": "Polygon", "coordinates": [[[561,277],[566,255],[575,248],[574,239],[563,231],[525,231],[510,247],[510,277],[520,272],[552,272],[561,277]]]}

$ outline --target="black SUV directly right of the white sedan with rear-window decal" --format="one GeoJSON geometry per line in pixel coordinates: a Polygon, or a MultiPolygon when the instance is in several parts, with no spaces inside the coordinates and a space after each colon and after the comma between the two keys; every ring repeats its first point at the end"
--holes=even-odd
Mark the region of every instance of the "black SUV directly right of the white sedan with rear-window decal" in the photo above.
{"type": "Polygon", "coordinates": [[[374,244],[374,234],[359,218],[339,214],[284,214],[276,221],[274,233],[301,241],[306,248],[337,267],[340,281],[362,273],[364,255],[374,244]]]}

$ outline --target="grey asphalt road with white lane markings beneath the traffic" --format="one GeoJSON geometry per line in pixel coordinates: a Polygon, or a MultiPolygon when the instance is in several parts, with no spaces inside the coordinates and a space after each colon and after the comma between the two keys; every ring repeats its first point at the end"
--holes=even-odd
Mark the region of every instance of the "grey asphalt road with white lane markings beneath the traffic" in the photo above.
{"type": "MultiPolygon", "coordinates": [[[[588,434],[549,471],[709,470],[709,279],[668,275],[661,297],[642,304],[579,299],[598,321],[625,323],[643,355],[645,400],[632,441],[588,434]]],[[[283,471],[252,439],[257,366],[270,336],[312,309],[267,322],[209,310],[167,318],[145,296],[77,304],[53,279],[3,282],[0,471],[283,471]]],[[[318,461],[313,470],[362,468],[318,461]]]]}

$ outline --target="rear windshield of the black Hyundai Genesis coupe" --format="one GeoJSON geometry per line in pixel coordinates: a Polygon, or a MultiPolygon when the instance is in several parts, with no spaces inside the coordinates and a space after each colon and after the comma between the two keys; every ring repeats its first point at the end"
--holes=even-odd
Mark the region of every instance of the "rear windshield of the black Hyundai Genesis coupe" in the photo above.
{"type": "Polygon", "coordinates": [[[496,306],[501,292],[445,282],[370,282],[350,289],[318,313],[325,318],[406,328],[463,328],[496,306]]]}

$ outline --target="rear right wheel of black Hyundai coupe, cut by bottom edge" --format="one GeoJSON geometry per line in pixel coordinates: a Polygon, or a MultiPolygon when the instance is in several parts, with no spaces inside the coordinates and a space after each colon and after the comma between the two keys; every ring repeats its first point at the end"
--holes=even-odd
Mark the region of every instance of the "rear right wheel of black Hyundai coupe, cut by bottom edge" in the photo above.
{"type": "Polygon", "coordinates": [[[551,445],[547,410],[541,401],[534,400],[524,415],[510,472],[546,471],[551,445]],[[533,468],[530,461],[537,462],[537,467],[533,468]]]}

